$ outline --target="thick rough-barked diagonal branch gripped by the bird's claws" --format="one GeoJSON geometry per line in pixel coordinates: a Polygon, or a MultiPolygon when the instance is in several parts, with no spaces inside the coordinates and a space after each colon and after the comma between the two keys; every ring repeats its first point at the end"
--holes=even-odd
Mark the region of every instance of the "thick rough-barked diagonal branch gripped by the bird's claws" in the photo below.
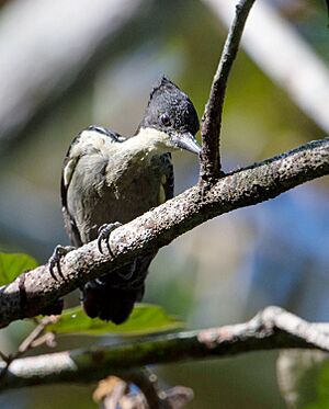
{"type": "MultiPolygon", "coordinates": [[[[113,271],[141,253],[173,239],[215,216],[273,198],[309,180],[329,174],[329,138],[232,172],[206,192],[195,185],[111,235],[112,254],[101,254],[97,241],[71,251],[55,280],[47,265],[19,276],[0,288],[0,327],[41,314],[56,299],[88,281],[113,271]]],[[[113,271],[113,273],[115,273],[113,271]]]]}

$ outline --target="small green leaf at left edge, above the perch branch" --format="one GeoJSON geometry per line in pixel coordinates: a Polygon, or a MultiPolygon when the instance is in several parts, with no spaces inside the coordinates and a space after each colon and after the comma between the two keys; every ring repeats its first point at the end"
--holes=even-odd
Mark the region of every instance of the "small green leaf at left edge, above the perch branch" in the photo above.
{"type": "Polygon", "coordinates": [[[36,260],[29,254],[0,252],[0,285],[12,282],[24,271],[37,265],[36,260]]]}

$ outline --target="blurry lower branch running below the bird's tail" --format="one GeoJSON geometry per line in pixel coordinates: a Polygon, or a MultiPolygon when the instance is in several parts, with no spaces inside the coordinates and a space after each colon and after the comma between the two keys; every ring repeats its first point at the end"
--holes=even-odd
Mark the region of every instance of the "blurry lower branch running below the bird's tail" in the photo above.
{"type": "Polygon", "coordinates": [[[15,360],[0,390],[64,382],[86,383],[148,364],[226,357],[250,351],[306,348],[329,351],[329,325],[310,323],[268,307],[245,323],[180,332],[150,340],[15,360]]]}

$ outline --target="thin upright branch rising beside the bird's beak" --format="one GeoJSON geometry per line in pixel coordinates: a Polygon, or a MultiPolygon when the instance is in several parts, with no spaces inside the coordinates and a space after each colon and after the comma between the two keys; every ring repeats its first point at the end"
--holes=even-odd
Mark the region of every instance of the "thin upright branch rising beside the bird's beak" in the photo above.
{"type": "Polygon", "coordinates": [[[213,79],[211,94],[202,118],[201,180],[207,182],[220,177],[219,134],[228,76],[237,56],[246,20],[254,0],[240,0],[230,25],[224,50],[213,79]]]}

